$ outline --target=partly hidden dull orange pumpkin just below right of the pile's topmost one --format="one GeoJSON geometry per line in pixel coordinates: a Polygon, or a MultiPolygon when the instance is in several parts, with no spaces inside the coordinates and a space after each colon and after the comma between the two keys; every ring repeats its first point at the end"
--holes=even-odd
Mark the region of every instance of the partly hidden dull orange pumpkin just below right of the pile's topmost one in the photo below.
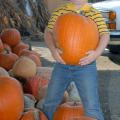
{"type": "Polygon", "coordinates": [[[20,56],[20,52],[24,49],[29,49],[29,45],[23,42],[20,42],[19,44],[17,44],[15,47],[12,48],[12,52],[20,56]]]}

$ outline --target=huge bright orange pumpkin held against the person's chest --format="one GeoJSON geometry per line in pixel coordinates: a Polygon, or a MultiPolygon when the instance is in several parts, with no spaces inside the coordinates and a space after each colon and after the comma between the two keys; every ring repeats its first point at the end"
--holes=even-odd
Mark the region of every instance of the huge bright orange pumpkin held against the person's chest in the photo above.
{"type": "Polygon", "coordinates": [[[86,52],[96,49],[99,42],[95,22],[77,13],[58,17],[54,33],[56,46],[62,50],[61,57],[66,64],[78,64],[86,52]]]}

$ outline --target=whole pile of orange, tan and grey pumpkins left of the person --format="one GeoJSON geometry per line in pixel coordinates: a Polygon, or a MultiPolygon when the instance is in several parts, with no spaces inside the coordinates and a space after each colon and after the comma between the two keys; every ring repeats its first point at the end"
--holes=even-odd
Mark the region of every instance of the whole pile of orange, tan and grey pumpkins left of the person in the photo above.
{"type": "Polygon", "coordinates": [[[37,100],[44,97],[48,85],[48,80],[37,75],[40,66],[40,54],[29,50],[17,29],[3,30],[0,35],[0,120],[47,120],[35,106],[37,100]],[[20,79],[24,79],[25,84],[21,84],[20,79]]]}

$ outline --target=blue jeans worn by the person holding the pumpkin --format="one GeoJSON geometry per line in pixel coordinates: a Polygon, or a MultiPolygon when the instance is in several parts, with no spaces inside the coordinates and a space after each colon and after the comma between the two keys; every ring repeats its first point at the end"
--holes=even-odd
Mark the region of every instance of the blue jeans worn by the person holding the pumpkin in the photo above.
{"type": "Polygon", "coordinates": [[[72,81],[76,84],[86,116],[104,120],[100,109],[97,75],[96,62],[86,66],[56,63],[43,104],[48,120],[53,120],[53,114],[72,81]]]}

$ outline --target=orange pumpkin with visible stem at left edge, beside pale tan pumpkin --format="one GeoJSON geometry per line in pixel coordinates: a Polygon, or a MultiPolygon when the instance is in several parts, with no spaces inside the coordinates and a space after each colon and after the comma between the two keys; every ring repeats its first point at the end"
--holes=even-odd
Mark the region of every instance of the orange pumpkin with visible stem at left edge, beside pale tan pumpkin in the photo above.
{"type": "Polygon", "coordinates": [[[0,66],[6,70],[10,70],[17,59],[18,56],[16,54],[4,51],[3,53],[0,53],[0,66]]]}

